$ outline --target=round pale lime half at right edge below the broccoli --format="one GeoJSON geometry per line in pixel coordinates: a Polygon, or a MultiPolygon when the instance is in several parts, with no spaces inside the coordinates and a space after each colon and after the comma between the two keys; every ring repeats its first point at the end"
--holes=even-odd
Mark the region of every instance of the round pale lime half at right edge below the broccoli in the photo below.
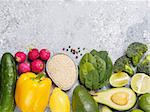
{"type": "Polygon", "coordinates": [[[137,73],[131,79],[131,88],[139,94],[150,92],[150,77],[144,73],[137,73]]]}

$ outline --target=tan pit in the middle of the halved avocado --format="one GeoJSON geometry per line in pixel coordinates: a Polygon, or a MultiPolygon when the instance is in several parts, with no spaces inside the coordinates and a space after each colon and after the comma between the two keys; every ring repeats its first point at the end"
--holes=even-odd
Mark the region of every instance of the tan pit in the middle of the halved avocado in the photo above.
{"type": "Polygon", "coordinates": [[[128,103],[129,94],[126,92],[117,92],[111,96],[111,100],[113,103],[124,106],[128,103]]]}

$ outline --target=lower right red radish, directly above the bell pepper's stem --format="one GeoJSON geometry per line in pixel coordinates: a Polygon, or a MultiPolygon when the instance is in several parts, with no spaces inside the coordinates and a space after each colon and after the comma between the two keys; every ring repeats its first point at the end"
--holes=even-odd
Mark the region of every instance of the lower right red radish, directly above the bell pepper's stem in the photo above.
{"type": "Polygon", "coordinates": [[[31,71],[35,73],[40,73],[44,69],[44,62],[40,59],[36,59],[33,62],[31,62],[31,71]]]}

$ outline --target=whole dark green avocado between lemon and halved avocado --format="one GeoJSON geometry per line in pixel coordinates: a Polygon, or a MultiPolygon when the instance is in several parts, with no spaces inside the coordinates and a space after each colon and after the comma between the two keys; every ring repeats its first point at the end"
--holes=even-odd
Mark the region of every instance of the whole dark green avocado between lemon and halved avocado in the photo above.
{"type": "Polygon", "coordinates": [[[77,86],[72,97],[73,112],[99,112],[98,104],[83,86],[77,86]]]}

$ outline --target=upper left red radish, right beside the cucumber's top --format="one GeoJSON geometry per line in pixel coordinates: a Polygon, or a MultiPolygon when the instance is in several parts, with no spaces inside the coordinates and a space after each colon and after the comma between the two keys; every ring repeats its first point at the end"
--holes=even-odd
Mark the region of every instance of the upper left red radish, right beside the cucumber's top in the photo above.
{"type": "Polygon", "coordinates": [[[22,63],[26,60],[26,54],[19,51],[15,54],[15,59],[17,62],[22,63]]]}

